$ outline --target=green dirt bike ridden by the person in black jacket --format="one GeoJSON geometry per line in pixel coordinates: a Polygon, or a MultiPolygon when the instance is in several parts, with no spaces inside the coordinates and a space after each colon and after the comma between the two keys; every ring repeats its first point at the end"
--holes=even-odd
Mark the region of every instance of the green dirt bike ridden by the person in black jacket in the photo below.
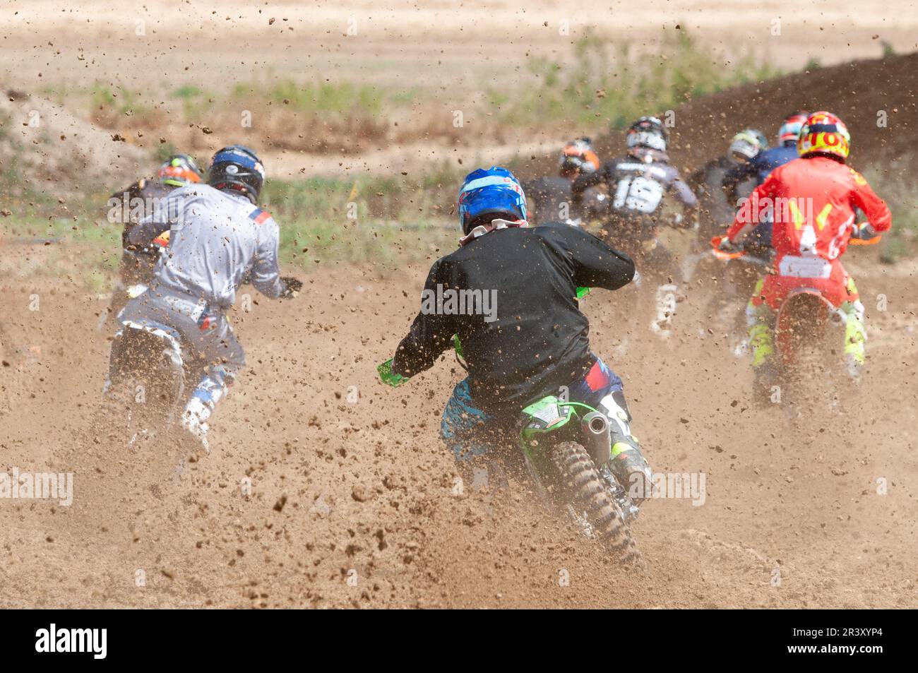
{"type": "MultiPolygon", "coordinates": [[[[578,288],[578,296],[585,296],[585,290],[578,288]]],[[[453,346],[460,359],[456,336],[453,346]]],[[[392,359],[377,371],[393,387],[408,380],[392,372],[392,359]]],[[[599,540],[622,564],[643,566],[629,526],[637,506],[610,469],[609,423],[598,409],[550,395],[522,410],[517,449],[546,502],[565,510],[580,531],[599,540]]]]}

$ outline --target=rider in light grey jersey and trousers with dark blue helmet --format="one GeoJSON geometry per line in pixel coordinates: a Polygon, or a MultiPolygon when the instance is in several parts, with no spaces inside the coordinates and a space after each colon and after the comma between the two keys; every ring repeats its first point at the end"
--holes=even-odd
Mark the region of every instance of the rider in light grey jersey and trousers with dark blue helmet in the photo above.
{"type": "Polygon", "coordinates": [[[186,359],[204,366],[185,406],[182,424],[207,449],[207,420],[245,365],[245,353],[226,311],[243,281],[267,297],[294,297],[302,283],[281,278],[279,229],[257,205],[264,168],[242,145],[219,150],[207,185],[172,192],[162,208],[129,231],[129,242],[144,244],[169,232],[167,248],[153,269],[149,289],[129,300],[119,322],[165,325],[180,336],[186,359]]]}

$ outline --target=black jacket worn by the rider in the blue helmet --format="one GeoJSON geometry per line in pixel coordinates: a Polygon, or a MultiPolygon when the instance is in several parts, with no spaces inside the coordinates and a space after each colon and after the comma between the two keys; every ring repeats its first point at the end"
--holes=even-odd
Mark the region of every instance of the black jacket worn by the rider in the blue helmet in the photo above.
{"type": "Polygon", "coordinates": [[[458,334],[481,409],[521,409],[557,394],[592,365],[577,286],[617,289],[633,273],[626,255],[574,227],[492,231],[433,264],[425,286],[434,293],[472,291],[465,297],[473,301],[480,292],[488,310],[450,313],[443,295],[442,310],[422,311],[415,320],[396,363],[400,371],[426,369],[458,334]]]}

